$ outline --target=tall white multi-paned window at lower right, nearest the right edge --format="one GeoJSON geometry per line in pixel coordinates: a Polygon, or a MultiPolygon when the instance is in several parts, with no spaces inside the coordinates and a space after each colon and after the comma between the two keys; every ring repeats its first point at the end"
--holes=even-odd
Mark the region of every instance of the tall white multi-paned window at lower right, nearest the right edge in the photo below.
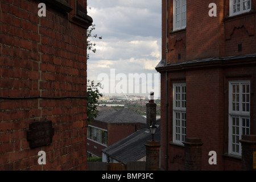
{"type": "Polygon", "coordinates": [[[229,154],[241,156],[242,135],[250,134],[250,81],[229,82],[229,154]]]}

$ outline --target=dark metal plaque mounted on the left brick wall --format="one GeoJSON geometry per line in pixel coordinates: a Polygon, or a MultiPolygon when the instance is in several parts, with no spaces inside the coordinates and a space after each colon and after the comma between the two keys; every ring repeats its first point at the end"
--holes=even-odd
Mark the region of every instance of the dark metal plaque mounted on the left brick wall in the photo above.
{"type": "Polygon", "coordinates": [[[52,121],[31,122],[27,131],[27,140],[30,142],[30,148],[47,146],[52,143],[53,135],[52,121]]]}

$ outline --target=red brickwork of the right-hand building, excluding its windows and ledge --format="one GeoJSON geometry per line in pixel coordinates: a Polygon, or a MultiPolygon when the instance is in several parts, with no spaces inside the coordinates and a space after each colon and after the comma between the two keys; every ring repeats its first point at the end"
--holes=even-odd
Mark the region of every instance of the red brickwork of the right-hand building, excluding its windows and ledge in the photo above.
{"type": "MultiPolygon", "coordinates": [[[[166,1],[162,1],[162,59],[165,59],[166,1]]],[[[255,9],[256,1],[252,1],[255,9]]],[[[247,55],[255,52],[255,13],[250,12],[229,18],[229,0],[187,1],[187,28],[172,31],[173,1],[168,1],[168,63],[183,63],[211,57],[247,55]],[[209,3],[216,3],[217,17],[209,17],[209,3]],[[238,44],[242,51],[238,52],[238,44]],[[183,56],[183,52],[185,55],[183,56]],[[181,59],[177,59],[181,53],[181,59]]],[[[201,138],[203,170],[240,170],[241,159],[232,158],[228,152],[228,82],[250,80],[251,92],[255,88],[255,60],[226,61],[229,64],[199,65],[199,67],[174,66],[157,68],[161,73],[161,167],[166,168],[168,146],[168,169],[184,169],[184,147],[172,143],[172,84],[187,84],[187,137],[201,138]],[[237,66],[235,65],[237,64],[237,66]],[[166,72],[168,93],[166,98],[166,72]],[[168,126],[166,126],[166,100],[168,102],[168,126]],[[166,141],[166,130],[167,141],[166,141]],[[217,152],[217,165],[209,165],[209,151],[217,152]]],[[[251,97],[251,134],[256,125],[254,97],[251,97]]]]}

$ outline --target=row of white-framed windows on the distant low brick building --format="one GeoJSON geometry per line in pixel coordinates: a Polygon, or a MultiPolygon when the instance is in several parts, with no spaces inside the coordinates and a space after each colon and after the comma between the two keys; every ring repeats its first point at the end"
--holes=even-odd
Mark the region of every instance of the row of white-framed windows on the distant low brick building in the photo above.
{"type": "Polygon", "coordinates": [[[88,139],[104,146],[108,146],[108,131],[98,129],[97,127],[90,126],[87,129],[88,139]]]}

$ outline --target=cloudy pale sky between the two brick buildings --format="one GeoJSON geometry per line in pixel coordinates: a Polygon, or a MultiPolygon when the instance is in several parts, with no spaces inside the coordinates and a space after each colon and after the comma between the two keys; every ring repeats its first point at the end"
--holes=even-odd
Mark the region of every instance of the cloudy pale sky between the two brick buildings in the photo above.
{"type": "Polygon", "coordinates": [[[102,40],[90,52],[88,78],[102,82],[106,96],[159,96],[162,16],[160,0],[88,0],[93,34],[102,40]]]}

